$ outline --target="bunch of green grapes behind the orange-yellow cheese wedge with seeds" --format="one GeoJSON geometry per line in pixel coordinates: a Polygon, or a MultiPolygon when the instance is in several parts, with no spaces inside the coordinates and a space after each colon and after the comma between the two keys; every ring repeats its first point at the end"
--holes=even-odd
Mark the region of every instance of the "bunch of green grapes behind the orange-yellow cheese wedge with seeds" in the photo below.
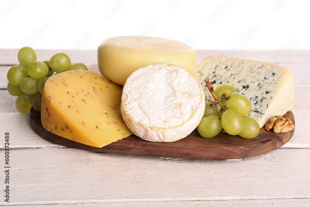
{"type": "Polygon", "coordinates": [[[59,52],[45,61],[37,61],[37,54],[31,47],[23,47],[18,52],[20,65],[15,65],[7,72],[7,91],[17,96],[15,106],[21,113],[34,110],[41,111],[44,84],[54,73],[68,70],[87,70],[83,63],[71,65],[69,56],[59,52]]]}

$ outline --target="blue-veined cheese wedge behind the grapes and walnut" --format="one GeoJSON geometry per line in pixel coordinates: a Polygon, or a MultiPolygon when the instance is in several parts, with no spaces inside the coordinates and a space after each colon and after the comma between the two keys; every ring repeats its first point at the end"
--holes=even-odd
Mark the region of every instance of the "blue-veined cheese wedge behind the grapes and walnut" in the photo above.
{"type": "Polygon", "coordinates": [[[294,107],[294,79],[288,68],[261,61],[208,56],[196,71],[207,98],[211,95],[204,79],[209,76],[214,88],[229,83],[250,99],[252,111],[248,116],[254,118],[260,127],[271,117],[282,116],[294,107]]]}

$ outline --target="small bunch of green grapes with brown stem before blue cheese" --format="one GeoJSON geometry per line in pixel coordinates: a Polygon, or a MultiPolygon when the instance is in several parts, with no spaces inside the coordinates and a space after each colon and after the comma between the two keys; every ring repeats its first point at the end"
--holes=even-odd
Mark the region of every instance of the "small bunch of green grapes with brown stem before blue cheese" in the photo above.
{"type": "Polygon", "coordinates": [[[225,111],[221,108],[218,110],[212,103],[206,103],[204,117],[201,119],[197,129],[202,137],[210,138],[216,136],[222,129],[230,135],[239,135],[243,138],[254,138],[259,134],[258,122],[246,115],[252,110],[250,100],[237,93],[236,89],[228,84],[221,84],[215,89],[217,97],[222,97],[225,93],[229,97],[223,101],[225,111]]]}

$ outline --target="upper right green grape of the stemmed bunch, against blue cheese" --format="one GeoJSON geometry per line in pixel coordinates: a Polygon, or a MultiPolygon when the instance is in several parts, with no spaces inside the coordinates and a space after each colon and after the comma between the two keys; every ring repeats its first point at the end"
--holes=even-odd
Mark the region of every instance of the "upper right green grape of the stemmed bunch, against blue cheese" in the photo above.
{"type": "Polygon", "coordinates": [[[237,110],[241,116],[248,115],[252,110],[252,104],[250,100],[241,93],[232,93],[230,98],[226,101],[228,109],[237,110]]]}

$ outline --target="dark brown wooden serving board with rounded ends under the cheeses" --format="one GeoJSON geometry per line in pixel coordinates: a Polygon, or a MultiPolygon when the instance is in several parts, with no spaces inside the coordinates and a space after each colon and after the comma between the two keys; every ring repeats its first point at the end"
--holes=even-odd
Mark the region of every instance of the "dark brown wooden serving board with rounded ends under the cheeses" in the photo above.
{"type": "MultiPolygon", "coordinates": [[[[294,115],[291,111],[287,112],[283,117],[291,119],[295,124],[294,115]]],[[[176,142],[149,142],[135,135],[130,135],[122,140],[98,148],[74,142],[48,132],[42,127],[41,113],[35,111],[33,108],[30,110],[30,120],[32,129],[43,139],[70,148],[95,152],[201,160],[239,159],[260,155],[281,147],[294,134],[294,129],[287,133],[274,133],[273,131],[267,131],[261,128],[259,135],[253,139],[245,139],[222,132],[212,138],[203,138],[199,135],[196,128],[187,137],[176,142]]]]}

